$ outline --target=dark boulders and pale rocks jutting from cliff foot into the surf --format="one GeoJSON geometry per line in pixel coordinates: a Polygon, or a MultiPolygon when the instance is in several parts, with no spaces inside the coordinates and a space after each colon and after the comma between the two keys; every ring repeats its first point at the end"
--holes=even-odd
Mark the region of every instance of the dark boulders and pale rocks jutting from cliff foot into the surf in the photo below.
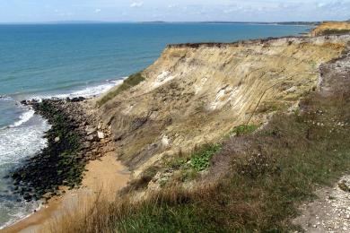
{"type": "Polygon", "coordinates": [[[85,165],[115,149],[109,127],[99,120],[88,99],[33,99],[22,104],[31,106],[51,125],[45,134],[48,146],[8,176],[13,193],[28,202],[64,194],[63,186],[81,186],[85,165]]]}

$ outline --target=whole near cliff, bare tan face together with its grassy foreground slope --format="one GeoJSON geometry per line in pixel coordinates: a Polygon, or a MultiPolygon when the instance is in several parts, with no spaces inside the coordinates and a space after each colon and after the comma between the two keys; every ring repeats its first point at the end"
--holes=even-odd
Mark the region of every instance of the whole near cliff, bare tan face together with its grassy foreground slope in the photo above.
{"type": "Polygon", "coordinates": [[[349,41],[166,47],[96,102],[135,179],[44,232],[346,231],[349,41]]]}

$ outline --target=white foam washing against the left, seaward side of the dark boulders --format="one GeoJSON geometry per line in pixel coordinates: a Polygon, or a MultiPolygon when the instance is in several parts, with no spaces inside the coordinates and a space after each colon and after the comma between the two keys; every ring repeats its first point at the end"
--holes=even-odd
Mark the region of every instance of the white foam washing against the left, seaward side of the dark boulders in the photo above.
{"type": "MultiPolygon", "coordinates": [[[[29,118],[29,114],[24,119],[29,118]]],[[[47,146],[47,139],[43,138],[44,132],[48,131],[50,126],[48,122],[40,116],[31,116],[33,118],[29,124],[0,129],[0,165],[1,173],[4,174],[6,167],[12,168],[19,164],[25,158],[31,157],[47,146]]],[[[2,177],[0,177],[2,178],[2,177]]],[[[1,189],[4,190],[6,183],[1,182],[1,189]]],[[[24,200],[18,202],[10,193],[2,193],[0,196],[0,215],[2,222],[0,229],[12,225],[18,220],[22,220],[32,214],[39,208],[39,202],[27,203],[24,200]],[[13,199],[14,198],[14,199],[13,199]]]]}

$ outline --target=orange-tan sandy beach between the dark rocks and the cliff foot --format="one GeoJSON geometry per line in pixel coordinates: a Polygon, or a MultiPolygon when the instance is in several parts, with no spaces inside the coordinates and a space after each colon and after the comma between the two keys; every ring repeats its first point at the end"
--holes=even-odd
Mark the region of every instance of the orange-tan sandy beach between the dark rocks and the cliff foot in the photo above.
{"type": "Polygon", "coordinates": [[[39,211],[28,218],[21,220],[3,232],[39,232],[44,224],[55,222],[57,217],[66,211],[75,211],[82,200],[92,200],[95,194],[101,194],[114,200],[116,193],[122,187],[127,186],[130,173],[118,160],[114,152],[109,152],[101,160],[91,161],[83,177],[83,187],[80,189],[66,190],[66,194],[56,197],[48,202],[39,211]]]}

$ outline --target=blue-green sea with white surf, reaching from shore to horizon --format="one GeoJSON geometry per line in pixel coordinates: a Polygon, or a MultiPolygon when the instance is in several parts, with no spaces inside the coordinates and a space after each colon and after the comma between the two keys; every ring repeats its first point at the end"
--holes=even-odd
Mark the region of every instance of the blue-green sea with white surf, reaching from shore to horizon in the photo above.
{"type": "Polygon", "coordinates": [[[48,122],[22,99],[93,97],[143,70],[167,44],[299,35],[306,26],[234,23],[0,24],[0,229],[29,216],[4,178],[43,149],[48,122]]]}

